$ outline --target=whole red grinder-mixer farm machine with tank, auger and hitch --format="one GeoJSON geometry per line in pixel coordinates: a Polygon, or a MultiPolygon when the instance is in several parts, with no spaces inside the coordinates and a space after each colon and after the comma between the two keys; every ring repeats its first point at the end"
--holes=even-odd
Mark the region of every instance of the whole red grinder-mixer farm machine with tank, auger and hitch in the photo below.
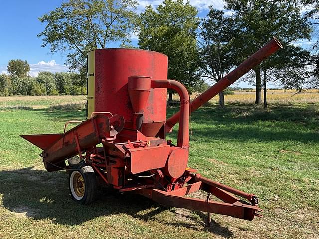
{"type": "Polygon", "coordinates": [[[22,137],[43,150],[48,172],[69,172],[71,196],[83,204],[94,200],[97,183],[103,182],[122,193],[134,191],[162,205],[208,212],[209,217],[217,213],[252,220],[262,211],[254,194],[187,167],[189,115],[279,48],[274,37],[192,102],[183,84],[167,80],[166,55],[138,49],[90,51],[87,120],[66,131],[74,121],[67,122],[64,133],[22,137]],[[180,111],[169,119],[167,89],[180,97],[180,111]],[[178,122],[175,144],[165,135],[178,122]],[[220,201],[186,197],[198,190],[220,201]]]}

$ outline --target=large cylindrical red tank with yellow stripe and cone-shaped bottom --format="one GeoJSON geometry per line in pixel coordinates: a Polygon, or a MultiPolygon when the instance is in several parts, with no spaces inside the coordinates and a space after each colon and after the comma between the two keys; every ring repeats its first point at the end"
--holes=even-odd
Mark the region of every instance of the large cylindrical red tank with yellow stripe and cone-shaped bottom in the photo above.
{"type": "MultiPolygon", "coordinates": [[[[129,76],[167,80],[166,55],[138,49],[98,49],[88,52],[88,118],[93,111],[109,111],[135,129],[128,94],[129,76]]],[[[151,89],[143,113],[142,133],[155,136],[166,121],[166,89],[151,89]]]]}

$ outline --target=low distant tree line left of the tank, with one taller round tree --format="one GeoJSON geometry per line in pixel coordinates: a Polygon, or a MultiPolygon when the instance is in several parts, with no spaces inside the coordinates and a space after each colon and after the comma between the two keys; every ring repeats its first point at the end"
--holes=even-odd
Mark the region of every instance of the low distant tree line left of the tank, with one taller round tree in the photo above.
{"type": "Polygon", "coordinates": [[[37,77],[28,75],[27,61],[10,60],[9,75],[0,75],[0,96],[29,95],[85,95],[86,80],[74,72],[39,72],[37,77]]]}

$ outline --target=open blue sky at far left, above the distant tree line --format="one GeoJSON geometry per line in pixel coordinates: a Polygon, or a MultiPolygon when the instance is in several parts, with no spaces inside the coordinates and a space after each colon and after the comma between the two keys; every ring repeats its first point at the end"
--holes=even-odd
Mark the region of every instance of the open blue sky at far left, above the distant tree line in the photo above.
{"type": "Polygon", "coordinates": [[[41,47],[42,40],[37,38],[44,29],[38,17],[59,6],[61,1],[1,0],[0,3],[0,73],[6,70],[11,59],[27,60],[35,68],[39,62],[44,68],[44,63],[49,62],[48,69],[55,66],[57,71],[65,70],[65,58],[61,54],[50,54],[49,48],[41,47]]]}

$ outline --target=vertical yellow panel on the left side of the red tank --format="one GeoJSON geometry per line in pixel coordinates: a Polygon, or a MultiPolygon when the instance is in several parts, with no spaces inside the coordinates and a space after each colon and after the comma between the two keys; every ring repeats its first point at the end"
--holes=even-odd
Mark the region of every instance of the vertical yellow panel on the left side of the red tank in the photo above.
{"type": "Polygon", "coordinates": [[[88,104],[87,104],[87,119],[91,118],[91,113],[94,111],[94,95],[95,95],[95,50],[88,52],[88,104]]]}

